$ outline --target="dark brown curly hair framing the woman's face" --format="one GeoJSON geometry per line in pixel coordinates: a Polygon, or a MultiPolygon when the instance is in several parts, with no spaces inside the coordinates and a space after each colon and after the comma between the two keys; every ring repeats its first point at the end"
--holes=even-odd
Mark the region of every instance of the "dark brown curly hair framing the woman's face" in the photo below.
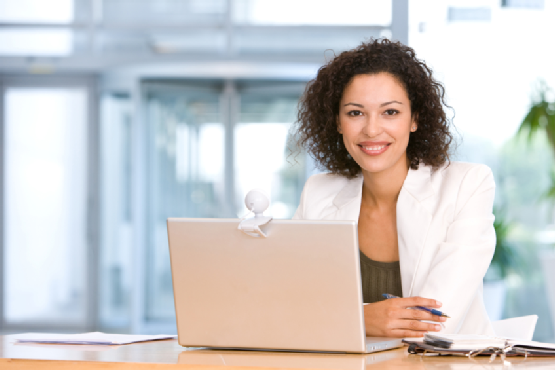
{"type": "Polygon", "coordinates": [[[339,105],[353,77],[381,72],[391,74],[404,86],[418,123],[418,130],[411,132],[407,146],[410,167],[417,169],[422,162],[437,169],[449,161],[453,136],[443,110],[447,106],[443,85],[416,58],[412,48],[387,39],[371,39],[321,67],[301,97],[294,126],[298,144],[307,149],[320,168],[349,178],[361,172],[337,131],[339,105]]]}

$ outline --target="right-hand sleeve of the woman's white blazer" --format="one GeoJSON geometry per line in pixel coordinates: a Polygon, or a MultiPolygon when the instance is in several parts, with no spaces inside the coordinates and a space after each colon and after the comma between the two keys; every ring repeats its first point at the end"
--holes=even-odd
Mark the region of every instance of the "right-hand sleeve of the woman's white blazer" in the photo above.
{"type": "Polygon", "coordinates": [[[494,197],[491,170],[477,166],[468,171],[460,183],[453,219],[447,223],[446,237],[431,261],[426,283],[415,292],[443,303],[441,309],[451,317],[445,322],[445,333],[457,333],[471,306],[476,302],[482,305],[482,297],[477,295],[483,294],[483,278],[496,244],[494,197]]]}

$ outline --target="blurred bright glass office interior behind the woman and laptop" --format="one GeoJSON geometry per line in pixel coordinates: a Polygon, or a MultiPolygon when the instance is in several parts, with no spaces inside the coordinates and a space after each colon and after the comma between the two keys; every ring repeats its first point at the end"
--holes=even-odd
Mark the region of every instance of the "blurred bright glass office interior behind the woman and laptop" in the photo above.
{"type": "Polygon", "coordinates": [[[553,19],[555,0],[0,0],[0,332],[175,332],[166,218],[243,216],[254,187],[291,217],[318,171],[290,151],[306,82],[387,37],[444,82],[455,159],[495,173],[490,315],[553,340],[551,116],[516,135],[545,87],[555,114],[553,19]]]}

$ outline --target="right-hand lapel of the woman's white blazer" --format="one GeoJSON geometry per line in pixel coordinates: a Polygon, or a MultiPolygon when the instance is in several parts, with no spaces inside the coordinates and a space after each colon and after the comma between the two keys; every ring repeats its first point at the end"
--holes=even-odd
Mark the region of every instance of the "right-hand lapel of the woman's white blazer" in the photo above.
{"type": "Polygon", "coordinates": [[[397,236],[403,297],[412,296],[412,288],[428,230],[432,211],[426,200],[435,194],[431,182],[431,169],[420,165],[410,169],[397,200],[397,236]]]}

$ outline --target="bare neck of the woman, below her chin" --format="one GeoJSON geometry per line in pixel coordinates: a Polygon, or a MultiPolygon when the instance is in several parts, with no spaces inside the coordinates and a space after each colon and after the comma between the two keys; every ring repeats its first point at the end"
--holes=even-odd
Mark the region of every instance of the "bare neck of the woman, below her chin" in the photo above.
{"type": "Polygon", "coordinates": [[[362,202],[378,209],[395,206],[408,171],[408,161],[403,160],[381,172],[363,170],[362,202]]]}

